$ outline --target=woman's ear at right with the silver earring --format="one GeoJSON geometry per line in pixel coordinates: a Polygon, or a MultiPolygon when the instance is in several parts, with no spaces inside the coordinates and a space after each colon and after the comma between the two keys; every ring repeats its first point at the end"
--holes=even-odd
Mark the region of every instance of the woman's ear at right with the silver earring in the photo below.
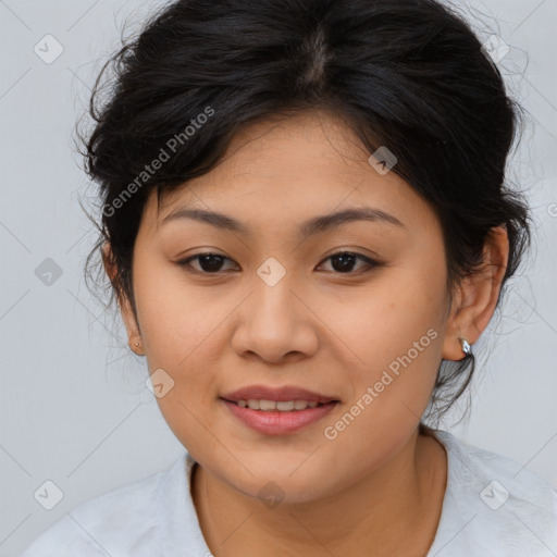
{"type": "Polygon", "coordinates": [[[443,344],[443,359],[461,360],[465,354],[459,337],[472,345],[490,323],[507,270],[508,255],[507,228],[492,228],[484,244],[480,269],[462,280],[453,299],[443,344]]]}

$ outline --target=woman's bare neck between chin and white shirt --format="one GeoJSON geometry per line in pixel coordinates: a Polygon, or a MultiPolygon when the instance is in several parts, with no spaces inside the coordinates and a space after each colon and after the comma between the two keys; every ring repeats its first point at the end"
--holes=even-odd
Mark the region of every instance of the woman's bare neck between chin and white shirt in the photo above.
{"type": "Polygon", "coordinates": [[[443,447],[417,430],[380,469],[319,500],[283,502],[265,508],[258,498],[199,466],[191,479],[191,495],[215,557],[284,557],[317,547],[323,555],[329,550],[333,555],[394,557],[428,553],[441,517],[445,484],[443,447]]]}

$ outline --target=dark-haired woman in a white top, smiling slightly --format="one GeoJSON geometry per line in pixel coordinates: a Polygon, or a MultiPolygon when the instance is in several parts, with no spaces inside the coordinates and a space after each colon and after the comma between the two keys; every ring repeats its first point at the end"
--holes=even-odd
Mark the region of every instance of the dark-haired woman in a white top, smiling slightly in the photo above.
{"type": "Polygon", "coordinates": [[[187,453],[24,557],[557,553],[552,486],[426,425],[530,234],[484,50],[433,0],[189,0],[113,57],[91,257],[187,453]]]}

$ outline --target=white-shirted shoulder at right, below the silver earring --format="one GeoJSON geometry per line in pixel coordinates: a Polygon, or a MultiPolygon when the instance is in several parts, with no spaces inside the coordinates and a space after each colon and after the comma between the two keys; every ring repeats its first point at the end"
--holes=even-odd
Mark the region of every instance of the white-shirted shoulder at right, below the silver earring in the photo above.
{"type": "Polygon", "coordinates": [[[434,433],[448,456],[440,536],[455,540],[440,557],[460,555],[450,545],[493,556],[555,555],[557,491],[510,458],[434,433]]]}

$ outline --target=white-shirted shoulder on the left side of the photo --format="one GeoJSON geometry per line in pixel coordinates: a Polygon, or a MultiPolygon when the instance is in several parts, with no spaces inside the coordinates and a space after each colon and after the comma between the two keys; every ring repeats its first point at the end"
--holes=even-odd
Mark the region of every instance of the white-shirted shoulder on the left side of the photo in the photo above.
{"type": "Polygon", "coordinates": [[[161,491],[183,470],[185,457],[164,471],[74,507],[35,539],[21,557],[158,555],[161,491]]]}

